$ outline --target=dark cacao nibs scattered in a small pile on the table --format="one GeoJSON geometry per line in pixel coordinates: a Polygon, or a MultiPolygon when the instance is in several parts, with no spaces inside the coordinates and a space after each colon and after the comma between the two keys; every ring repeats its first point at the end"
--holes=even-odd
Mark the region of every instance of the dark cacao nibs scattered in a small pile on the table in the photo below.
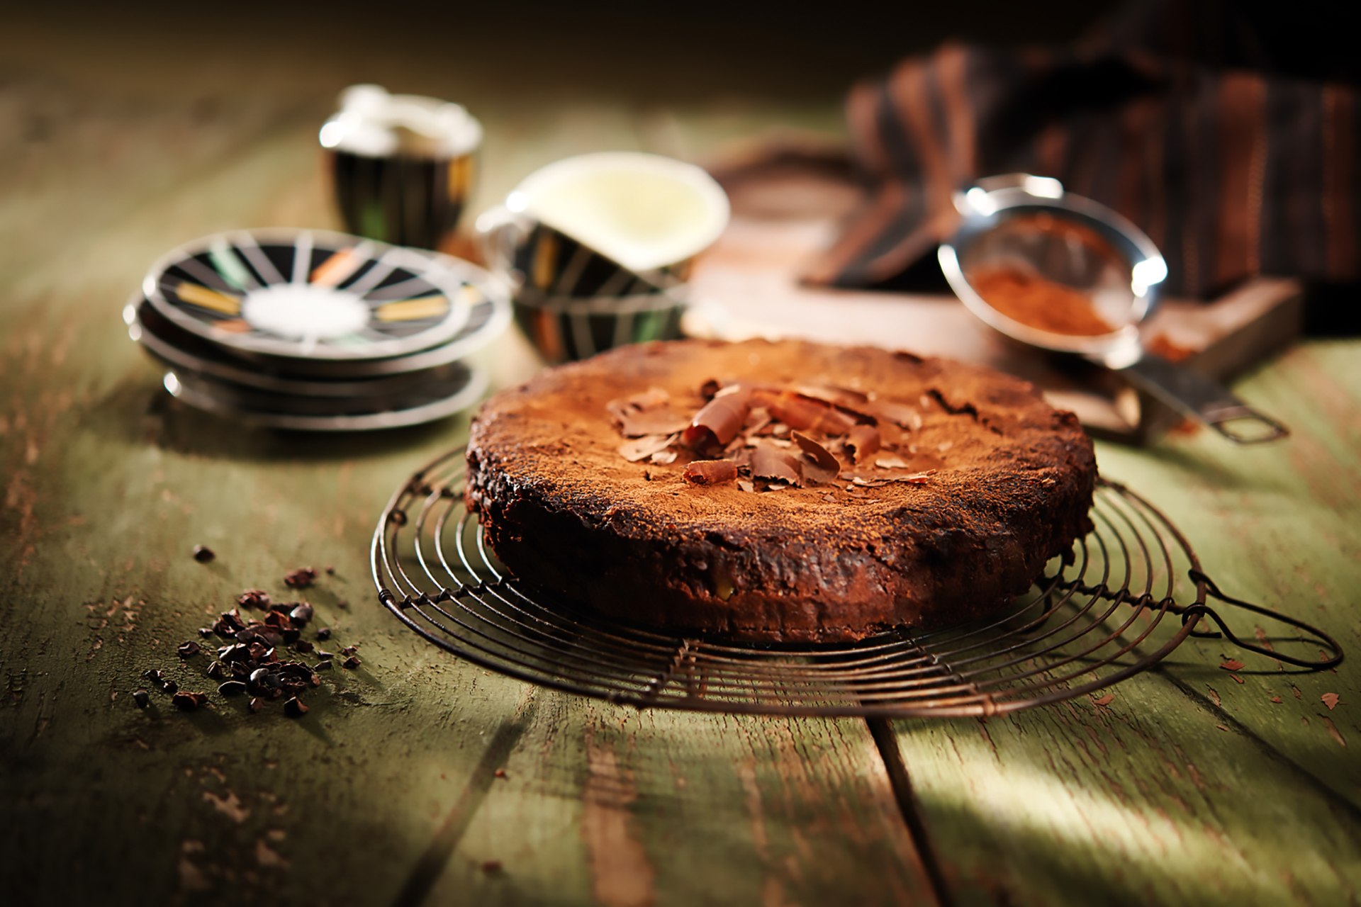
{"type": "MultiPolygon", "coordinates": [[[[284,578],[284,585],[309,586],[316,575],[310,567],[294,570],[284,578]]],[[[222,612],[211,627],[199,631],[201,638],[216,636],[223,643],[206,672],[218,684],[218,694],[249,695],[252,713],[259,713],[267,702],[283,699],[284,714],[291,718],[305,715],[308,706],[304,704],[302,695],[321,685],[318,672],[332,670],[336,657],[302,638],[313,616],[314,609],[306,601],[275,602],[263,589],[242,592],[235,608],[222,612]],[[261,617],[250,616],[252,611],[261,612],[261,617]],[[301,660],[302,655],[309,655],[316,664],[306,664],[301,660]]],[[[321,627],[314,636],[317,640],[331,639],[332,630],[321,627]]],[[[188,640],[177,646],[176,651],[188,662],[204,650],[197,642],[188,640]]],[[[363,664],[357,646],[346,646],[340,654],[344,657],[342,665],[347,669],[352,670],[363,664]]],[[[184,711],[208,704],[207,694],[181,691],[161,669],[152,668],[143,677],[170,695],[174,706],[184,711]]],[[[150,694],[144,688],[136,689],[132,699],[142,708],[150,704],[150,694]]]]}

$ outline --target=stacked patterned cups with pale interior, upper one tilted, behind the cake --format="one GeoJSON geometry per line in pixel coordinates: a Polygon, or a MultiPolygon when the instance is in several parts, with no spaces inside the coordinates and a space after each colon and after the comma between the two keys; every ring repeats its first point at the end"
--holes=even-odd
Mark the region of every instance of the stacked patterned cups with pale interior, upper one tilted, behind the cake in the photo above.
{"type": "Polygon", "coordinates": [[[603,152],[536,170],[476,227],[489,267],[514,287],[520,328],[557,363],[679,337],[690,265],[728,216],[700,167],[603,152]]]}

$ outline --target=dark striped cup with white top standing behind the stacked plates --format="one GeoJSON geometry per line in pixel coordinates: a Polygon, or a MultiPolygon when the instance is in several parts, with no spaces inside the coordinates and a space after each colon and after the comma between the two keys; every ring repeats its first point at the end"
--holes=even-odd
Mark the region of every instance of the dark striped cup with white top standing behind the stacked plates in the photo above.
{"type": "Polygon", "coordinates": [[[438,249],[472,192],[482,125],[456,103],[351,86],[320,133],[346,230],[438,249]]]}

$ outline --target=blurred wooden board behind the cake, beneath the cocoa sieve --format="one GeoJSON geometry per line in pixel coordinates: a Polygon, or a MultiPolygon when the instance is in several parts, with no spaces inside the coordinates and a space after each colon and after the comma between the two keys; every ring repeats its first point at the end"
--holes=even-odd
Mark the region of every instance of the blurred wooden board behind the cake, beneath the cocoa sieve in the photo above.
{"type": "MultiPolygon", "coordinates": [[[[864,197],[838,148],[762,144],[712,165],[732,222],[695,264],[690,336],[800,337],[950,356],[1030,381],[1093,435],[1149,443],[1181,416],[1120,375],[1026,347],[974,318],[953,295],[833,290],[800,281],[864,197]]],[[[1164,299],[1143,325],[1149,349],[1229,381],[1300,336],[1297,280],[1259,277],[1210,301],[1164,299]]],[[[1288,413],[1273,413],[1288,416],[1288,413]]]]}

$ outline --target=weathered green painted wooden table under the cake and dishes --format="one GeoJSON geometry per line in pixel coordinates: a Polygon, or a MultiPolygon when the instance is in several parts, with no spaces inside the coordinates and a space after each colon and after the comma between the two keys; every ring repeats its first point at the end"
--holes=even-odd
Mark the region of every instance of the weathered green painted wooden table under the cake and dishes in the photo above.
{"type": "MultiPolygon", "coordinates": [[[[774,126],[836,135],[845,67],[691,65],[685,82],[661,60],[619,84],[562,54],[563,78],[527,92],[505,44],[437,65],[271,38],[244,65],[226,39],[105,26],[56,41],[11,23],[0,58],[0,903],[1361,900],[1351,661],[1288,673],[1192,640],[1101,703],[879,733],[531,688],[425,645],[367,578],[388,495],[464,419],[350,438],[240,428],[170,400],[124,335],[124,298],[165,249],[332,226],[314,131],[343,84],[465,101],[487,126],[486,205],[577,151],[698,158],[774,126]],[[193,544],[218,559],[196,563],[193,544]],[[155,691],[133,704],[148,668],[208,688],[176,646],[304,564],[333,566],[309,590],[317,624],[363,658],[305,718],[216,696],[178,713],[155,691]],[[1245,668],[1219,669],[1226,657],[1245,668]]],[[[1098,449],[1226,592],[1353,654],[1358,354],[1305,341],[1236,386],[1289,417],[1286,443],[1098,449]]],[[[514,335],[482,360],[501,383],[534,367],[514,335]]]]}

